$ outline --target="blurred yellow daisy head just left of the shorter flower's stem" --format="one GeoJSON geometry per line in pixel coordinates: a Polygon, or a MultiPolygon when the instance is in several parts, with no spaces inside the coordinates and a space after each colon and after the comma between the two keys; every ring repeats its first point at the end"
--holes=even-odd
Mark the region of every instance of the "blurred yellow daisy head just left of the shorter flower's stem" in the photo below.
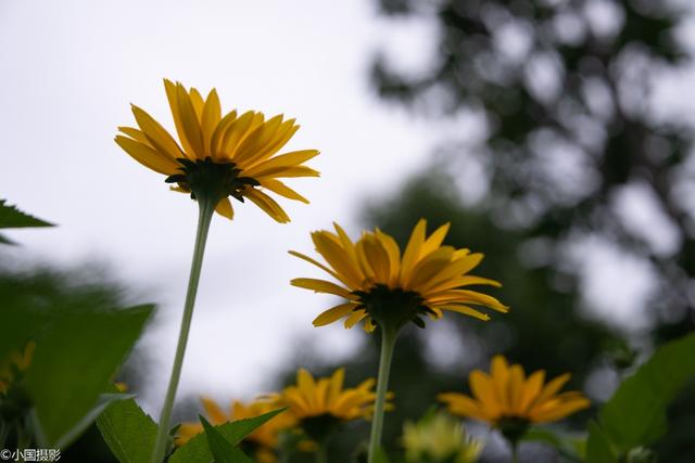
{"type": "Polygon", "coordinates": [[[298,420],[306,435],[315,441],[323,441],[340,424],[367,419],[371,414],[376,381],[369,378],[357,387],[344,388],[344,377],[343,369],[336,370],[330,377],[318,380],[300,369],[296,384],[271,396],[271,402],[289,407],[289,414],[298,420]]]}

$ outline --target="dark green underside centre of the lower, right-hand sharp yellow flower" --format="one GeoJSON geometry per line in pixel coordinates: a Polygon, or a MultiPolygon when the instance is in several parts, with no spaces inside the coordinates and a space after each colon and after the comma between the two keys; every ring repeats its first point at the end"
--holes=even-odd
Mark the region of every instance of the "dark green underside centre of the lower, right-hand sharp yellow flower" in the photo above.
{"type": "Polygon", "coordinates": [[[422,304],[425,299],[413,291],[377,284],[369,291],[355,291],[353,294],[359,297],[362,306],[378,325],[395,331],[407,322],[425,327],[425,321],[420,317],[434,313],[422,304]]]}

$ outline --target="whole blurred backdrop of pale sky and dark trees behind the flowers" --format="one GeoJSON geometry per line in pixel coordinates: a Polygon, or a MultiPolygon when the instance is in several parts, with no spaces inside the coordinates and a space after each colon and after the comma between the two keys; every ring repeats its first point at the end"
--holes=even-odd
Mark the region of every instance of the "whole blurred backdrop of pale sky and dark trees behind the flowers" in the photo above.
{"type": "MultiPolygon", "coordinates": [[[[283,202],[290,224],[245,205],[233,222],[215,218],[179,419],[200,395],[250,399],[300,365],[346,365],[353,384],[375,375],[374,338],[312,326],[331,300],[289,285],[317,273],[287,250],[311,253],[308,232],[333,220],[403,243],[419,217],[451,221],[450,244],[485,253],[480,273],[504,283],[496,296],[513,311],[403,335],[390,448],[405,417],[465,390],[497,352],[571,371],[601,403],[633,353],[695,327],[694,51],[686,0],[3,0],[2,196],[60,226],[9,233],[22,245],[1,250],[3,271],[156,303],[122,372],[156,416],[195,205],[113,136],[131,102],[173,126],[164,77],[215,87],[224,108],[296,117],[291,147],[319,149],[321,178],[292,182],[312,204],[283,202]]],[[[662,461],[695,453],[694,391],[673,407],[662,461]]],[[[366,436],[346,429],[334,461],[366,436]]],[[[505,461],[488,438],[484,460],[505,461]]],[[[91,433],[66,458],[110,461],[102,450],[91,433]]],[[[523,456],[557,461],[532,446],[523,456]]]]}

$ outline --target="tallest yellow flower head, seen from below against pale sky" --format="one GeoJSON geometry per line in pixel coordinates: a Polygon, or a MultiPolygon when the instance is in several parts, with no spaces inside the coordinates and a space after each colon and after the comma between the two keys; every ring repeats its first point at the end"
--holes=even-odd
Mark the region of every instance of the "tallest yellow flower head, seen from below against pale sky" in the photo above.
{"type": "Polygon", "coordinates": [[[231,219],[228,196],[249,198],[278,222],[289,222],[282,208],[264,191],[290,200],[308,201],[279,178],[318,177],[302,165],[318,154],[316,150],[293,151],[275,156],[299,126],[282,115],[265,120],[263,113],[236,111],[223,116],[217,92],[207,98],[180,82],[164,80],[166,95],[178,133],[177,142],[152,116],[132,105],[139,129],[119,127],[116,143],[137,162],[167,176],[173,190],[211,195],[216,211],[231,219]]]}

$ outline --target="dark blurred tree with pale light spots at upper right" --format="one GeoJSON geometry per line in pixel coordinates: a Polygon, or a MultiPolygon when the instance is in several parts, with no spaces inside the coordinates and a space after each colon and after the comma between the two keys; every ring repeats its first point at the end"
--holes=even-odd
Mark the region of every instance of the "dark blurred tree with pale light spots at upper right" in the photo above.
{"type": "Polygon", "coordinates": [[[556,245],[587,234],[608,240],[654,270],[654,314],[695,326],[688,290],[695,275],[695,204],[688,194],[694,172],[686,165],[692,128],[664,115],[654,98],[659,78],[686,63],[678,40],[685,3],[378,4],[383,14],[437,25],[430,67],[417,75],[397,72],[392,63],[401,56],[380,53],[374,82],[383,99],[418,114],[472,113],[484,120],[481,143],[471,146],[469,138],[466,147],[447,143],[444,151],[465,157],[462,170],[484,172],[484,207],[496,226],[556,245]],[[654,201],[653,223],[661,223],[635,227],[626,220],[620,198],[635,192],[654,201]],[[666,242],[654,237],[664,222],[673,231],[666,242]]]}

